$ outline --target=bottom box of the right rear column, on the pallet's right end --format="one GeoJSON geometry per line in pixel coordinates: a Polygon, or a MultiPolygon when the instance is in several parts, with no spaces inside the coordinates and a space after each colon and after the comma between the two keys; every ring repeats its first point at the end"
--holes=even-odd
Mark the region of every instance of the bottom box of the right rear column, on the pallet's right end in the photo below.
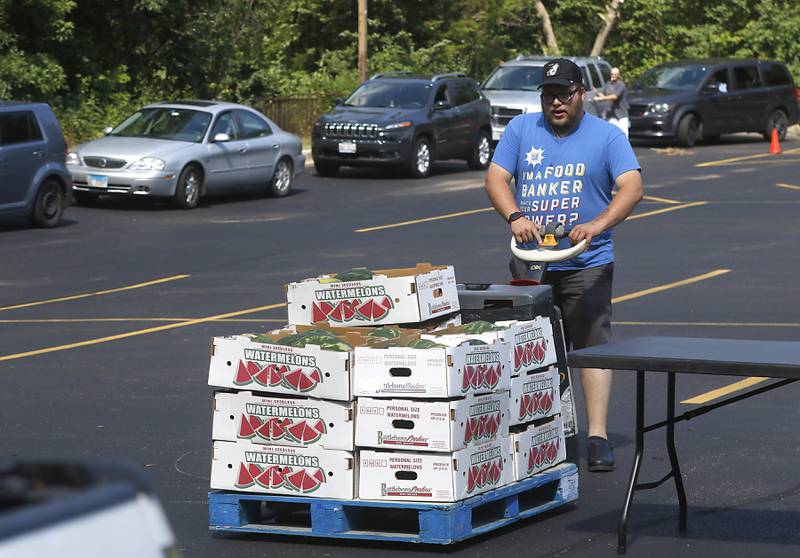
{"type": "Polygon", "coordinates": [[[522,480],[549,469],[567,458],[564,421],[555,416],[542,424],[531,425],[512,434],[514,480],[522,480]]]}

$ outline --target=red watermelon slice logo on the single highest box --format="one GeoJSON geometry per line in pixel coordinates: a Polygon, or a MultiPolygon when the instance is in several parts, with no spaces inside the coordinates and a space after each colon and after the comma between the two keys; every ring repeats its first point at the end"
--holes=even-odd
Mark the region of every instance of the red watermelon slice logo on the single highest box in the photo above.
{"type": "Polygon", "coordinates": [[[311,321],[343,323],[353,320],[376,322],[394,308],[382,286],[315,291],[311,321]]]}

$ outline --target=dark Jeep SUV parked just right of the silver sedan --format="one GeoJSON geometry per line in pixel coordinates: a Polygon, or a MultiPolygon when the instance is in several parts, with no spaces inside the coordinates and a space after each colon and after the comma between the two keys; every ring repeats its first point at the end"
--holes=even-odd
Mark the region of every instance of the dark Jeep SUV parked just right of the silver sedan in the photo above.
{"type": "Polygon", "coordinates": [[[317,173],[341,166],[405,167],[415,177],[434,160],[489,165],[489,101],[464,74],[377,74],[314,124],[311,151],[317,173]]]}

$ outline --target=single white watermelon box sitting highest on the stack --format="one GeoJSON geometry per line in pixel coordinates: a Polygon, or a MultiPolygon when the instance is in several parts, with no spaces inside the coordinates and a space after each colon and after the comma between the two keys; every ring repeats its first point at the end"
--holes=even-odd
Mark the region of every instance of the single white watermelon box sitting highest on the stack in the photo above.
{"type": "Polygon", "coordinates": [[[310,325],[370,326],[424,322],[457,312],[458,292],[452,266],[417,264],[376,270],[365,281],[306,279],[286,287],[289,322],[310,325]]]}

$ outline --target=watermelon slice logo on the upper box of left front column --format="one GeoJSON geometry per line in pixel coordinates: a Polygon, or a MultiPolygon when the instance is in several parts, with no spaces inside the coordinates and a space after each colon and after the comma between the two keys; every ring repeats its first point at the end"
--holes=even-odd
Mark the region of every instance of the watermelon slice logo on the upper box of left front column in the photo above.
{"type": "Polygon", "coordinates": [[[245,349],[233,383],[243,387],[255,382],[268,391],[306,393],[322,383],[322,373],[316,362],[309,355],[245,349]]]}

